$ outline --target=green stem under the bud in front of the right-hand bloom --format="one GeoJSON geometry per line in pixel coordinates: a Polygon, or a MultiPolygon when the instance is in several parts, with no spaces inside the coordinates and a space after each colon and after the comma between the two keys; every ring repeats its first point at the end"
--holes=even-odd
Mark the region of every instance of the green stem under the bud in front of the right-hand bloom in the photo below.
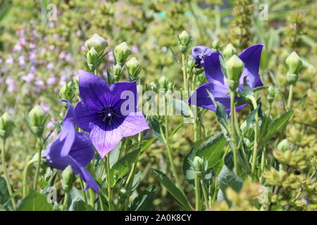
{"type": "Polygon", "coordinates": [[[239,165],[238,165],[238,153],[237,153],[237,137],[235,135],[235,92],[230,91],[230,124],[231,124],[231,136],[232,136],[232,146],[233,146],[233,163],[235,165],[235,173],[237,176],[240,175],[239,165]]]}

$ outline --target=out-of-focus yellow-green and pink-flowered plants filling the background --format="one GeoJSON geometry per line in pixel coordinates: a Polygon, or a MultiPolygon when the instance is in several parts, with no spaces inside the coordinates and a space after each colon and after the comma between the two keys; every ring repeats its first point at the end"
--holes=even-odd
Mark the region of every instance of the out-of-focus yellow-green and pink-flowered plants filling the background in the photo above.
{"type": "MultiPolygon", "coordinates": [[[[14,141],[7,142],[6,151],[13,186],[22,186],[21,171],[35,153],[33,146],[36,139],[27,130],[25,114],[34,105],[40,105],[51,118],[46,122],[45,135],[51,131],[56,134],[54,124],[61,121],[56,95],[77,76],[78,69],[85,70],[85,55],[82,52],[85,49],[85,40],[94,33],[106,39],[108,51],[112,51],[114,46],[123,41],[127,42],[132,55],[143,65],[139,73],[142,84],[150,84],[166,76],[177,88],[182,88],[182,67],[177,60],[181,56],[177,35],[182,30],[187,30],[192,37],[189,51],[192,46],[211,46],[215,40],[220,46],[233,44],[238,52],[251,44],[263,43],[266,47],[261,58],[260,74],[266,86],[272,84],[278,89],[271,110],[275,117],[285,110],[289,88],[285,58],[292,51],[297,51],[304,60],[304,69],[294,86],[293,99],[295,102],[300,101],[305,95],[307,99],[295,109],[294,122],[287,128],[286,138],[300,152],[315,149],[316,153],[317,71],[313,66],[317,62],[316,8],[317,2],[313,0],[1,0],[0,115],[10,113],[15,124],[10,137],[14,141]],[[268,7],[268,18],[264,20],[259,17],[263,10],[261,4],[268,7]],[[54,13],[54,7],[56,20],[48,16],[54,13]],[[23,140],[30,141],[26,144],[23,140]]],[[[108,53],[105,58],[98,71],[104,78],[108,76],[106,66],[114,62],[112,53],[108,53]]],[[[128,73],[123,71],[123,79],[125,78],[128,79],[128,73]]],[[[243,113],[245,110],[244,108],[240,113],[242,118],[246,117],[243,113]]],[[[210,127],[209,134],[219,129],[214,113],[207,113],[204,118],[205,127],[210,127]]],[[[180,120],[181,117],[176,117],[171,123],[178,124],[180,120]]],[[[176,167],[182,166],[182,159],[193,143],[193,137],[189,134],[192,134],[192,127],[186,125],[170,139],[176,167]]],[[[146,153],[146,158],[140,158],[139,166],[145,168],[142,173],[145,178],[142,180],[149,184],[157,183],[155,176],[148,172],[149,168],[159,168],[166,172],[168,167],[168,159],[162,153],[166,149],[162,146],[162,143],[155,142],[151,151],[146,153]]],[[[292,169],[287,169],[289,162],[285,161],[285,156],[281,153],[273,151],[272,156],[283,166],[280,170],[276,168],[277,170],[270,170],[266,174],[268,184],[277,185],[276,182],[283,182],[281,189],[292,192],[294,186],[288,184],[299,182],[298,186],[302,185],[303,191],[310,190],[306,193],[314,196],[316,204],[316,192],[311,191],[311,186],[315,186],[316,191],[316,183],[311,184],[310,179],[306,178],[286,181],[283,173],[294,173],[292,169]]],[[[297,165],[297,162],[292,163],[297,165]]],[[[316,169],[316,159],[312,164],[316,169]]],[[[292,177],[288,176],[287,179],[292,177]]],[[[229,191],[232,209],[254,209],[252,201],[256,196],[256,185],[248,181],[239,195],[229,191]],[[245,205],[240,204],[243,199],[247,199],[245,205]]],[[[285,192],[278,191],[274,198],[290,201],[283,193],[285,192]]],[[[173,198],[167,198],[168,195],[165,189],[159,188],[154,200],[155,210],[178,209],[173,198]]],[[[296,193],[289,196],[296,198],[292,207],[307,210],[304,200],[297,198],[296,193]]],[[[230,206],[216,205],[215,209],[228,207],[230,206]]]]}

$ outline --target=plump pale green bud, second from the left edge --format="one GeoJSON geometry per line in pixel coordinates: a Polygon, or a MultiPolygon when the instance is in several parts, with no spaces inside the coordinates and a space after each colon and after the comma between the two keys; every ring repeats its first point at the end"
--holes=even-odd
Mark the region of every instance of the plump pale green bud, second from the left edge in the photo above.
{"type": "Polygon", "coordinates": [[[30,110],[28,117],[32,133],[37,137],[41,137],[44,131],[46,113],[41,106],[35,105],[35,107],[30,110]]]}

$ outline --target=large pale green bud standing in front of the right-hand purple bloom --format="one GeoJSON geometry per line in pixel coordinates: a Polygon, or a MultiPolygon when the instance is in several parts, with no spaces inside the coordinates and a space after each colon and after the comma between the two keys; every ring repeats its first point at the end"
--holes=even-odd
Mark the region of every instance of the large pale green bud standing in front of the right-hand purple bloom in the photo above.
{"type": "Polygon", "coordinates": [[[237,86],[239,86],[239,79],[242,74],[243,68],[244,63],[237,55],[231,56],[225,62],[229,88],[233,91],[235,91],[235,89],[237,89],[237,86]]]}

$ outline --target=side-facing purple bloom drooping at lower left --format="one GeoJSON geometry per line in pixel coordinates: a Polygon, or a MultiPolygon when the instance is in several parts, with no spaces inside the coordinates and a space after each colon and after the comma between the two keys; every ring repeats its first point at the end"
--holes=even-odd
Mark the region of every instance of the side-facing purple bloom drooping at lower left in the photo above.
{"type": "MultiPolygon", "coordinates": [[[[66,100],[61,101],[68,103],[66,100]]],[[[64,170],[70,165],[73,172],[85,181],[85,190],[92,188],[99,194],[97,182],[85,169],[94,158],[94,146],[88,134],[75,131],[75,113],[71,103],[68,103],[61,132],[46,147],[43,157],[47,159],[47,165],[55,169],[64,170]]]]}

